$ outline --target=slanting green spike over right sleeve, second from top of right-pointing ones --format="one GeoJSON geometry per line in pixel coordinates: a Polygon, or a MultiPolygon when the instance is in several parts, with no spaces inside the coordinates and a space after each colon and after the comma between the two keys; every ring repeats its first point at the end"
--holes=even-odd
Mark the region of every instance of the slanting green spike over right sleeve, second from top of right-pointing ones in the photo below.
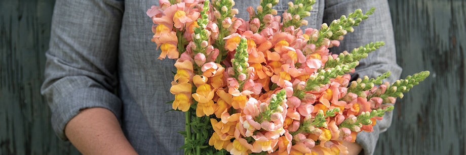
{"type": "Polygon", "coordinates": [[[371,42],[366,44],[365,46],[355,48],[353,49],[353,51],[351,51],[351,53],[343,51],[343,53],[340,53],[337,58],[328,57],[328,61],[325,63],[324,68],[333,68],[340,64],[347,64],[360,61],[361,59],[366,58],[369,55],[369,53],[380,48],[383,45],[385,45],[385,42],[377,41],[375,43],[371,42]]]}

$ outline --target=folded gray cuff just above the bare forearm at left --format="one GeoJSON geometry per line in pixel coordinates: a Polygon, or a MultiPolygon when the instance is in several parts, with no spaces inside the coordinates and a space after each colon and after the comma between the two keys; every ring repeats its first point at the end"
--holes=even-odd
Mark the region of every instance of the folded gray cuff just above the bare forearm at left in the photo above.
{"type": "Polygon", "coordinates": [[[108,90],[101,88],[81,88],[70,92],[57,102],[60,106],[51,107],[52,127],[58,137],[68,140],[64,129],[68,121],[86,108],[105,108],[117,118],[121,116],[121,100],[108,90]]]}

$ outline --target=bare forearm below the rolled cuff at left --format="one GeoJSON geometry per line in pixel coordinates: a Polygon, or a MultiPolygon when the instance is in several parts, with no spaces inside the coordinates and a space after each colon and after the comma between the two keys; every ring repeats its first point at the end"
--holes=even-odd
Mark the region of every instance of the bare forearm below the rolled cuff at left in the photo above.
{"type": "Polygon", "coordinates": [[[137,154],[115,115],[104,108],[82,110],[68,122],[65,134],[83,154],[137,154]]]}

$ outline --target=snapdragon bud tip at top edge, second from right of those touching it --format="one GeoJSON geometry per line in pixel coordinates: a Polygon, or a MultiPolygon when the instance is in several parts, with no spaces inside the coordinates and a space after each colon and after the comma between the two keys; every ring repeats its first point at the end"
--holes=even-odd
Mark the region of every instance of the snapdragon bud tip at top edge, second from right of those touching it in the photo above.
{"type": "Polygon", "coordinates": [[[259,6],[256,7],[256,13],[255,15],[250,16],[250,21],[252,21],[254,18],[257,18],[261,20],[260,26],[257,29],[257,32],[262,31],[262,29],[265,28],[265,22],[264,21],[264,16],[267,14],[271,15],[277,15],[277,10],[272,9],[275,5],[277,5],[279,1],[278,0],[261,0],[259,6]]]}

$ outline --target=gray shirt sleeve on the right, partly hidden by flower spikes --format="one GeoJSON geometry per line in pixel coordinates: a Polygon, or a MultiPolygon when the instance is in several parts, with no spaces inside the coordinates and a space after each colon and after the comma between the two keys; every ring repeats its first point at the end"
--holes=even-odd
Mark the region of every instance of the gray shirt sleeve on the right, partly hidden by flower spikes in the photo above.
{"type": "MultiPolygon", "coordinates": [[[[324,11],[324,22],[331,23],[341,15],[348,15],[356,9],[362,9],[363,13],[370,8],[375,7],[373,15],[369,15],[367,20],[361,22],[355,27],[353,33],[348,33],[340,42],[340,46],[331,48],[331,51],[340,53],[343,50],[351,51],[353,48],[364,46],[367,43],[375,41],[385,41],[385,45],[373,51],[369,56],[360,61],[356,72],[352,75],[353,79],[361,78],[365,75],[369,78],[375,78],[387,71],[392,75],[385,81],[394,82],[400,77],[401,67],[396,63],[396,49],[392,28],[392,20],[387,1],[372,0],[335,0],[326,1],[324,11]]],[[[364,154],[373,154],[379,134],[387,130],[392,123],[392,112],[387,112],[383,120],[377,121],[372,132],[361,132],[356,138],[364,149],[364,154]]]]}

